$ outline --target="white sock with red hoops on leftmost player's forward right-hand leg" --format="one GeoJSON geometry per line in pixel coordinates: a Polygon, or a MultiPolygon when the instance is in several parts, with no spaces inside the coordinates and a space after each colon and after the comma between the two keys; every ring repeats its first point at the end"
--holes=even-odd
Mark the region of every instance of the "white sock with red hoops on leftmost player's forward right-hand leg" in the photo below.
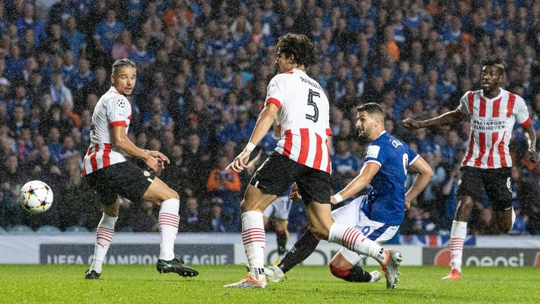
{"type": "Polygon", "coordinates": [[[178,223],[180,217],[178,210],[180,201],[176,198],[169,198],[161,203],[158,225],[160,227],[160,260],[172,260],[174,258],[174,241],[178,233],[178,223]]]}

